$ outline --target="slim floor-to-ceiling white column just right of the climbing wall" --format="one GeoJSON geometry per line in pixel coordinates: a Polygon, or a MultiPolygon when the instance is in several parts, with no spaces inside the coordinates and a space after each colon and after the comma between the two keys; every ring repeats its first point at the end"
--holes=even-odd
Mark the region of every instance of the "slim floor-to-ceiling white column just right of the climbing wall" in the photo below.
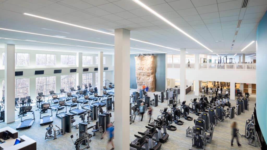
{"type": "Polygon", "coordinates": [[[185,100],[185,48],[180,49],[180,101],[185,100]]]}

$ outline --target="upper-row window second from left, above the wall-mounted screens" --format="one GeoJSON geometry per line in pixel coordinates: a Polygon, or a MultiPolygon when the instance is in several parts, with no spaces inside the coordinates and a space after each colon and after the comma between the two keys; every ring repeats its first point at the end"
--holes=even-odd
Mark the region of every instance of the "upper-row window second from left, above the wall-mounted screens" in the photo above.
{"type": "Polygon", "coordinates": [[[36,65],[55,65],[56,55],[54,54],[36,54],[36,65]]]}

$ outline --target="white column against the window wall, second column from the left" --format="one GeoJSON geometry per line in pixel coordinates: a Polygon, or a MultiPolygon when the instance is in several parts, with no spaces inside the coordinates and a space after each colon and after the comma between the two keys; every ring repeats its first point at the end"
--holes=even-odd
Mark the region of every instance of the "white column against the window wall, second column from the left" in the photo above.
{"type": "Polygon", "coordinates": [[[78,67],[76,70],[76,85],[83,88],[83,53],[76,54],[76,65],[78,67]]]}

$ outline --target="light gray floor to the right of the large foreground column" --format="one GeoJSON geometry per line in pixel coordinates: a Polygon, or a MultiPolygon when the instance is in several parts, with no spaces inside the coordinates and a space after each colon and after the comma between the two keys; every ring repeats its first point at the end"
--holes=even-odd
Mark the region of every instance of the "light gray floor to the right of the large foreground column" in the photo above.
{"type": "MultiPolygon", "coordinates": [[[[131,89],[130,94],[135,91],[131,89]]],[[[159,92],[155,92],[156,94],[159,94],[159,92]]],[[[200,93],[199,95],[201,95],[200,93]]],[[[151,97],[151,99],[154,98],[153,93],[148,93],[148,96],[151,97]]],[[[199,96],[200,97],[200,96],[199,96]]],[[[198,98],[197,96],[194,96],[194,92],[191,91],[188,94],[186,94],[186,104],[188,105],[190,100],[193,98],[198,98]]],[[[236,97],[237,98],[237,97],[236,97]]],[[[247,119],[250,119],[253,110],[254,110],[254,104],[256,101],[256,95],[251,95],[249,101],[249,111],[245,110],[245,113],[241,113],[241,115],[236,116],[233,119],[225,119],[224,122],[219,122],[217,126],[215,126],[214,133],[213,133],[213,139],[211,144],[207,144],[206,149],[207,150],[214,150],[214,149],[222,149],[222,150],[228,150],[228,149],[258,149],[258,147],[254,147],[252,145],[248,144],[248,140],[244,137],[239,137],[239,142],[242,144],[241,147],[237,146],[236,141],[234,140],[234,146],[231,147],[230,141],[231,141],[231,124],[236,121],[237,126],[239,128],[239,132],[244,135],[245,134],[245,121],[247,119]]],[[[181,100],[182,102],[182,100],[181,100]]],[[[232,106],[235,106],[235,101],[230,100],[230,103],[232,106]]],[[[152,106],[153,107],[153,106],[152,106]]],[[[156,119],[157,115],[160,114],[159,110],[163,109],[164,107],[167,107],[167,101],[164,101],[163,103],[159,103],[157,107],[153,107],[153,118],[156,119]]],[[[225,109],[227,106],[225,107],[225,109]]],[[[196,119],[198,116],[196,116],[193,113],[190,113],[189,116],[196,119]]],[[[138,135],[138,131],[144,132],[146,130],[145,126],[148,124],[148,115],[147,112],[144,115],[143,121],[141,122],[141,117],[137,116],[136,121],[130,125],[130,141],[133,141],[135,139],[134,134],[138,135]]],[[[172,124],[177,127],[176,131],[169,131],[167,130],[167,133],[169,134],[169,141],[167,143],[163,143],[161,149],[163,150],[174,150],[174,149],[189,149],[192,145],[192,138],[186,137],[186,128],[188,126],[193,127],[194,122],[193,121],[187,121],[183,118],[181,118],[184,122],[183,125],[179,126],[176,124],[172,124]]]]}

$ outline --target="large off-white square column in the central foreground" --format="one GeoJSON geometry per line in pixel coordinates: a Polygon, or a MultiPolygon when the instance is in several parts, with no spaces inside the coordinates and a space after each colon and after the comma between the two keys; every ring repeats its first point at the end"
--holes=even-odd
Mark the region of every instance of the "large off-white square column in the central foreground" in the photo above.
{"type": "Polygon", "coordinates": [[[115,29],[114,52],[115,134],[116,150],[129,149],[129,93],[130,93],[130,31],[115,29]]]}

